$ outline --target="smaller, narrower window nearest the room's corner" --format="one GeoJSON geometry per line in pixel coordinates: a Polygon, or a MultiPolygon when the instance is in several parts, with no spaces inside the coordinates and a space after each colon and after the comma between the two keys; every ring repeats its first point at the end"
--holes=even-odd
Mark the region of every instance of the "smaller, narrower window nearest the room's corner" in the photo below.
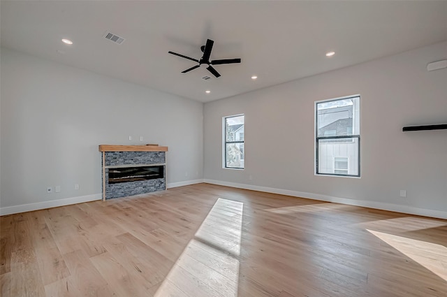
{"type": "Polygon", "coordinates": [[[244,115],[223,118],[224,168],[244,168],[244,115]]]}

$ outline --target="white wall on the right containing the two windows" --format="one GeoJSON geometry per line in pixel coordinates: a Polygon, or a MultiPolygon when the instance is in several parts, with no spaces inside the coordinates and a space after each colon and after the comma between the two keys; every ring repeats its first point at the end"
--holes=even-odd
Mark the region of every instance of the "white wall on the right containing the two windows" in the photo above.
{"type": "Polygon", "coordinates": [[[426,70],[439,59],[446,42],[205,103],[206,181],[447,218],[447,131],[402,132],[447,123],[447,69],[426,70]],[[314,101],[353,94],[361,178],[315,176],[314,101]],[[223,169],[221,117],[242,113],[245,170],[223,169]]]}

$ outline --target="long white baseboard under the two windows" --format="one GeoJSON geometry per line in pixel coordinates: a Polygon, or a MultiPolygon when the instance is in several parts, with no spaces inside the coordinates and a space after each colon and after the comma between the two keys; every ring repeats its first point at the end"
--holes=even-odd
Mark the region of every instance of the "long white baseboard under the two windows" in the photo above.
{"type": "Polygon", "coordinates": [[[219,184],[221,186],[235,187],[235,188],[240,188],[240,189],[264,191],[264,192],[273,193],[273,194],[295,196],[295,197],[300,197],[300,198],[309,198],[309,199],[314,199],[314,200],[318,200],[318,201],[327,201],[327,202],[342,203],[342,204],[347,204],[347,205],[356,205],[356,206],[362,206],[364,208],[374,208],[377,210],[389,210],[389,211],[393,211],[393,212],[402,212],[402,213],[409,214],[409,215],[422,215],[424,217],[436,217],[439,219],[447,219],[447,212],[444,212],[441,210],[428,210],[426,208],[415,208],[415,207],[409,206],[409,205],[397,205],[397,204],[392,204],[392,203],[383,203],[383,202],[376,202],[376,201],[355,200],[355,199],[349,199],[349,198],[340,198],[340,197],[334,197],[334,196],[328,196],[328,195],[307,193],[307,192],[303,192],[303,191],[291,191],[291,190],[286,190],[286,189],[260,187],[260,186],[254,186],[252,184],[238,184],[235,182],[221,182],[220,180],[205,179],[205,180],[203,180],[203,182],[207,182],[208,184],[219,184]]]}

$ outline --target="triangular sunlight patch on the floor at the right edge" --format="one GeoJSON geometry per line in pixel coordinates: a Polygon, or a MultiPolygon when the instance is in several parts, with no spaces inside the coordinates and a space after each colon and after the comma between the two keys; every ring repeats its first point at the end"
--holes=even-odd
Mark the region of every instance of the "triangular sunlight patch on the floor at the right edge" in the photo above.
{"type": "Polygon", "coordinates": [[[367,231],[447,281],[447,247],[379,231],[367,231]]]}

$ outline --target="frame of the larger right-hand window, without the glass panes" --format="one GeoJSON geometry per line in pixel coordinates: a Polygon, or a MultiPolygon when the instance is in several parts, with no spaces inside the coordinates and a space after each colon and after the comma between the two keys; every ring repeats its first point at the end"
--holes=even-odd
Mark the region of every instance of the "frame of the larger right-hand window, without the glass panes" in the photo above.
{"type": "MultiPolygon", "coordinates": [[[[314,168],[314,174],[315,175],[323,175],[323,176],[337,176],[337,177],[342,177],[342,178],[360,178],[360,94],[356,94],[356,95],[351,95],[351,96],[343,96],[343,97],[339,97],[339,98],[335,98],[335,99],[328,99],[328,100],[321,100],[321,101],[315,101],[314,103],[314,108],[315,108],[315,119],[314,119],[314,124],[315,124],[315,136],[314,136],[314,140],[315,140],[315,156],[314,156],[314,164],[315,164],[315,168],[314,168]],[[359,129],[358,129],[358,133],[357,134],[351,134],[351,135],[343,135],[343,136],[318,136],[318,104],[320,103],[326,103],[326,102],[333,102],[333,101],[341,101],[341,100],[345,100],[345,99],[354,99],[354,98],[358,98],[358,115],[357,117],[359,117],[359,129]],[[331,139],[348,139],[351,138],[352,141],[355,143],[355,138],[357,138],[357,174],[338,174],[338,173],[321,173],[319,172],[319,168],[318,168],[318,141],[319,140],[331,140],[331,139]]],[[[353,121],[354,121],[354,114],[356,113],[356,111],[353,108],[353,121]]],[[[335,158],[335,157],[334,157],[335,158]]],[[[350,164],[350,159],[348,158],[348,164],[350,164]]],[[[335,168],[334,168],[335,171],[335,168]]]]}

